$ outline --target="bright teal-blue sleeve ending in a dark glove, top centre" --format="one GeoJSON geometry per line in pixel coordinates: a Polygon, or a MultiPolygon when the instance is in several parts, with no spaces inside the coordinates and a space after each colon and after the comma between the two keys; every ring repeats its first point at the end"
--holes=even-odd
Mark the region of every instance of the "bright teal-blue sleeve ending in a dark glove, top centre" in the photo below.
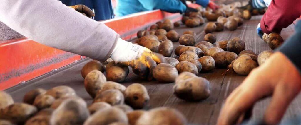
{"type": "Polygon", "coordinates": [[[147,10],[164,10],[170,13],[184,13],[186,6],[179,0],[139,0],[147,10]]]}

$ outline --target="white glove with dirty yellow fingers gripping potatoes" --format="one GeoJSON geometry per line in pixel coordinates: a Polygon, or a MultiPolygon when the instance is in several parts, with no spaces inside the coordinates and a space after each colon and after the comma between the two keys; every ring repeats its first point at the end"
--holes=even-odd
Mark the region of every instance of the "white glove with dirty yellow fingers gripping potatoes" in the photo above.
{"type": "Polygon", "coordinates": [[[148,80],[153,78],[152,72],[157,63],[164,61],[162,55],[121,38],[118,39],[111,58],[116,63],[132,67],[135,74],[142,79],[147,78],[148,80]]]}

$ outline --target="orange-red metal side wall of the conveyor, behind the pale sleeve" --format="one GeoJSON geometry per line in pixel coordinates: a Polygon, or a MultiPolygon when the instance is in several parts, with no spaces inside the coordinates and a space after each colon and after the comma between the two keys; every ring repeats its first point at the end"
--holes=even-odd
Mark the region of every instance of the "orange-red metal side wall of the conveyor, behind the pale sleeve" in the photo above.
{"type": "MultiPolygon", "coordinates": [[[[192,6],[198,7],[198,5],[192,6]]],[[[146,29],[149,25],[165,18],[178,21],[181,16],[178,13],[153,10],[103,22],[119,33],[123,39],[128,40],[136,37],[138,30],[146,29]]],[[[0,90],[81,59],[80,55],[54,49],[27,38],[1,41],[0,53],[0,90]]]]}

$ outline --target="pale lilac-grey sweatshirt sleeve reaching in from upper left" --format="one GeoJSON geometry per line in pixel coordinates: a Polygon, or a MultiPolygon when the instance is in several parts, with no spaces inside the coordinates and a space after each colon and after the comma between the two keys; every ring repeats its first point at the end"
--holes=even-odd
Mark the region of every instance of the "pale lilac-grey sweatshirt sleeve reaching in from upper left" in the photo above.
{"type": "MultiPolygon", "coordinates": [[[[58,0],[0,0],[0,21],[18,33],[98,60],[110,57],[119,35],[58,0]]],[[[30,49],[30,48],[29,48],[30,49]]]]}

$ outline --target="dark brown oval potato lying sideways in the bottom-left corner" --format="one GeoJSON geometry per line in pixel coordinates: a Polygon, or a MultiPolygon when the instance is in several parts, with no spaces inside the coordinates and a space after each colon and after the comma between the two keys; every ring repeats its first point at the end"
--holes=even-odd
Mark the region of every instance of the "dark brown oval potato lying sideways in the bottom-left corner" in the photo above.
{"type": "Polygon", "coordinates": [[[14,103],[2,109],[0,119],[11,121],[14,124],[24,124],[36,112],[38,109],[35,106],[26,103],[14,103]]]}

